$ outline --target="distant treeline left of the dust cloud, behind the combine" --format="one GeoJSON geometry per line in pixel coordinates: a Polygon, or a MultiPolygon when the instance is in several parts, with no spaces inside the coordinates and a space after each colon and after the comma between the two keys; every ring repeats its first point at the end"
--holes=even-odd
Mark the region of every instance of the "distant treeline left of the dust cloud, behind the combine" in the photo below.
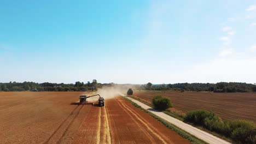
{"type": "Polygon", "coordinates": [[[32,92],[68,92],[68,91],[96,91],[97,88],[102,86],[113,86],[114,83],[98,83],[97,80],[92,80],[92,82],[80,82],[77,81],[74,84],[69,83],[36,83],[36,82],[9,82],[9,83],[0,83],[0,91],[32,91],[32,92]]]}

